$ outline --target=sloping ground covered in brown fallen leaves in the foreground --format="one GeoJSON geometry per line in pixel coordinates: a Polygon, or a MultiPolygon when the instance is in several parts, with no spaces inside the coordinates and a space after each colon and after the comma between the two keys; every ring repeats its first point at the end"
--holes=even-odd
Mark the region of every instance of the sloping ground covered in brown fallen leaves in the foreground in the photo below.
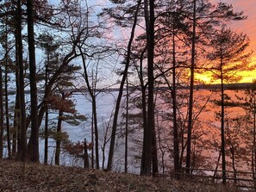
{"type": "Polygon", "coordinates": [[[0,161],[0,191],[234,192],[238,190],[221,184],[178,181],[167,177],[141,177],[103,170],[2,160],[0,161]]]}

